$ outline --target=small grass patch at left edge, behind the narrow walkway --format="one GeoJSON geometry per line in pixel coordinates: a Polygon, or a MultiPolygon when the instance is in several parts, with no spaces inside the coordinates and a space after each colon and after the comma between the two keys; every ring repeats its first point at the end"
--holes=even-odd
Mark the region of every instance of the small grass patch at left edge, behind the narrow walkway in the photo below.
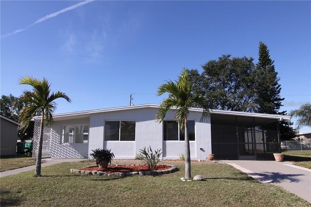
{"type": "Polygon", "coordinates": [[[35,159],[25,154],[18,154],[12,156],[1,156],[0,158],[0,172],[6,170],[13,170],[29,165],[34,165],[35,159]]]}

